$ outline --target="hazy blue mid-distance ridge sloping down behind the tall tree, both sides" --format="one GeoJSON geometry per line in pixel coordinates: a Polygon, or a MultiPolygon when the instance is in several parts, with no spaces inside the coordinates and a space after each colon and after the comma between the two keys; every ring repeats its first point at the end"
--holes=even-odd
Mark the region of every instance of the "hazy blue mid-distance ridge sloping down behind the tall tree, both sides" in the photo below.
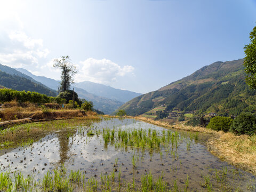
{"type": "MultiPolygon", "coordinates": [[[[38,82],[43,83],[46,86],[51,87],[52,89],[58,90],[59,82],[52,78],[47,78],[44,76],[36,76],[30,73],[26,69],[18,68],[18,71],[20,71],[22,74],[26,74],[27,76],[35,79],[38,82]]],[[[105,86],[105,85],[103,85],[105,86]]],[[[105,114],[111,114],[113,111],[115,111],[118,107],[123,105],[124,102],[115,100],[115,99],[109,99],[105,97],[101,97],[99,95],[95,95],[92,93],[87,92],[84,89],[81,89],[77,86],[71,86],[71,89],[75,88],[75,92],[78,94],[78,97],[81,99],[86,99],[93,102],[94,108],[98,109],[100,111],[103,111],[105,114]]],[[[114,88],[113,88],[114,89],[114,88]]]]}

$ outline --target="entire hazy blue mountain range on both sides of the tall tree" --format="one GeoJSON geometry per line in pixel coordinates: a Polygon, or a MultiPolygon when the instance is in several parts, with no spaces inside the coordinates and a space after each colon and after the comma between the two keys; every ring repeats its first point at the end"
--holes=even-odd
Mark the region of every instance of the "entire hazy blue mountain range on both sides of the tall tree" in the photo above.
{"type": "MultiPolygon", "coordinates": [[[[49,96],[56,96],[59,83],[60,81],[52,78],[36,76],[26,69],[13,69],[0,64],[0,85],[10,89],[36,91],[49,96]]],[[[139,93],[118,90],[92,82],[77,83],[71,88],[73,89],[73,87],[75,87],[79,98],[92,101],[94,108],[103,111],[105,114],[113,113],[124,102],[140,95],[139,93]]]]}

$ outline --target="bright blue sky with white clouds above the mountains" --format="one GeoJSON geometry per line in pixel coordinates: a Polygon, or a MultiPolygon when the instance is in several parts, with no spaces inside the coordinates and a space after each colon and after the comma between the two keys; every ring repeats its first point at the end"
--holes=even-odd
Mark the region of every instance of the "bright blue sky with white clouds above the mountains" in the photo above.
{"type": "Polygon", "coordinates": [[[244,58],[256,0],[1,1],[0,63],[147,93],[215,61],[244,58]]]}

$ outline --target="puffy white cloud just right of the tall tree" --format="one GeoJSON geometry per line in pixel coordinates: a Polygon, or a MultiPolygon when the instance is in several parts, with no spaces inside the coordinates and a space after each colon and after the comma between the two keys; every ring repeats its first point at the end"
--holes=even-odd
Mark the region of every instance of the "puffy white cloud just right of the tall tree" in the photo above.
{"type": "Polygon", "coordinates": [[[95,83],[111,84],[118,77],[125,76],[134,70],[132,66],[121,67],[108,59],[97,60],[94,58],[79,62],[76,82],[91,81],[95,83]]]}

